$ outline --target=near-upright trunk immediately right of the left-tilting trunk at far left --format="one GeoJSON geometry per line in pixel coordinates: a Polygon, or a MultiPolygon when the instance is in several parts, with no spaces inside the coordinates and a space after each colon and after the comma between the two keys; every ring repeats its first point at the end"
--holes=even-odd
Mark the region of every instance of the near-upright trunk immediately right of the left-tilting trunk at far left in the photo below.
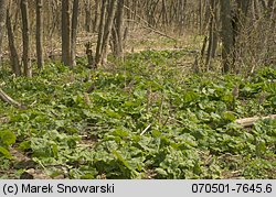
{"type": "Polygon", "coordinates": [[[24,75],[32,77],[32,66],[30,58],[30,21],[29,21],[29,9],[28,0],[21,0],[21,14],[22,14],[22,39],[23,39],[23,66],[24,75]]]}

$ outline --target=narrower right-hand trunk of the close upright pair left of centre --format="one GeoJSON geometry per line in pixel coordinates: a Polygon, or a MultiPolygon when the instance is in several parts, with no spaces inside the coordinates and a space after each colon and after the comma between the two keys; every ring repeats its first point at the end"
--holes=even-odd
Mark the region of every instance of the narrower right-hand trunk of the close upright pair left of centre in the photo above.
{"type": "Polygon", "coordinates": [[[72,35],[71,35],[71,67],[76,66],[76,34],[78,18],[78,0],[73,2],[72,35]]]}

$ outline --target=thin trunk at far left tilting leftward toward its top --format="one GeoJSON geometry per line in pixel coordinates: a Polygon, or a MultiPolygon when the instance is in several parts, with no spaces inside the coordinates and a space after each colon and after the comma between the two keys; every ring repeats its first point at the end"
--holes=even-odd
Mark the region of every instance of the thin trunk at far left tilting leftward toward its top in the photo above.
{"type": "Polygon", "coordinates": [[[7,23],[9,48],[10,48],[11,67],[12,67],[13,73],[15,74],[15,76],[20,76],[21,75],[21,66],[19,63],[19,55],[18,55],[17,47],[14,44],[14,34],[13,34],[13,30],[12,30],[12,25],[11,25],[9,9],[7,11],[6,23],[7,23]]]}

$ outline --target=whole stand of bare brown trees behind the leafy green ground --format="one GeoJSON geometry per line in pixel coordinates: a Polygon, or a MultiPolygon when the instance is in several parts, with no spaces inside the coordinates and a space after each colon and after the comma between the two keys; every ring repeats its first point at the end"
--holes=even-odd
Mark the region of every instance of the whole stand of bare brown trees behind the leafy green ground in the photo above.
{"type": "MultiPolygon", "coordinates": [[[[197,54],[201,57],[198,58],[200,70],[217,70],[219,56],[223,57],[223,70],[236,73],[252,73],[256,66],[275,58],[274,0],[29,0],[25,12],[29,24],[23,19],[21,2],[26,1],[9,1],[12,6],[7,21],[8,40],[3,37],[3,29],[0,34],[3,58],[9,51],[12,70],[18,70],[15,75],[20,75],[17,64],[21,58],[24,73],[30,58],[36,59],[39,67],[47,57],[73,67],[76,54],[86,53],[89,54],[88,65],[102,65],[109,53],[123,57],[125,47],[129,47],[138,31],[146,39],[150,34],[168,37],[176,47],[184,46],[183,37],[197,37],[198,51],[202,45],[202,53],[197,54]],[[226,12],[221,10],[225,3],[230,6],[226,12]],[[29,35],[28,40],[23,39],[23,33],[24,37],[29,35]],[[36,42],[31,42],[34,40],[36,42]],[[23,51],[26,53],[25,44],[24,50],[21,48],[22,41],[29,43],[30,48],[36,47],[36,53],[29,52],[29,57],[22,55],[23,51]]],[[[0,19],[4,21],[6,17],[0,19]]]]}

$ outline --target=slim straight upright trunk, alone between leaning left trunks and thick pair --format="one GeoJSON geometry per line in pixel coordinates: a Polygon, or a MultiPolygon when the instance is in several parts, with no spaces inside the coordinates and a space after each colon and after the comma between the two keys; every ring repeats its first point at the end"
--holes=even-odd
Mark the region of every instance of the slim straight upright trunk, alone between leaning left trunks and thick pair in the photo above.
{"type": "Polygon", "coordinates": [[[43,68],[43,17],[42,17],[42,4],[43,0],[36,0],[36,56],[38,56],[38,67],[43,68]]]}

